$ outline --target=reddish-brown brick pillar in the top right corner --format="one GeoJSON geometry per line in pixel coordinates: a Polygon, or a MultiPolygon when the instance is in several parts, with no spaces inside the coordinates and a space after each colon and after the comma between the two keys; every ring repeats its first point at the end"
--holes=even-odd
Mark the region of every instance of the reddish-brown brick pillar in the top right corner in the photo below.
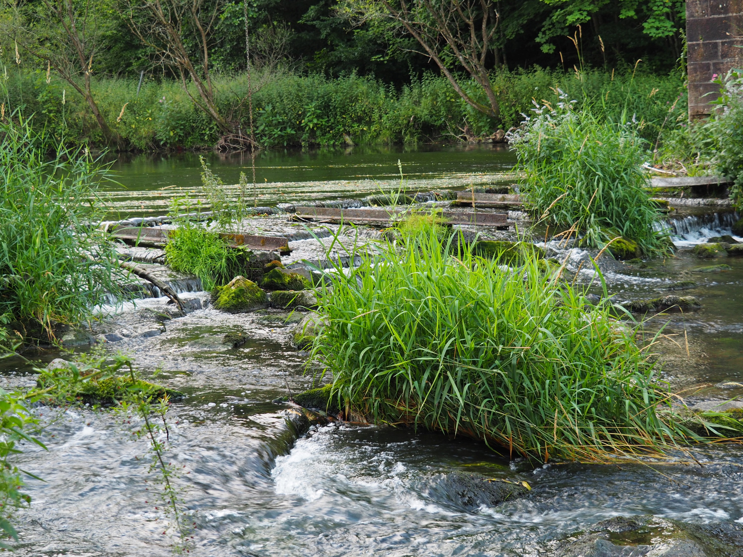
{"type": "Polygon", "coordinates": [[[687,0],[690,120],[710,114],[719,90],[713,74],[743,68],[742,45],[743,0],[687,0]]]}

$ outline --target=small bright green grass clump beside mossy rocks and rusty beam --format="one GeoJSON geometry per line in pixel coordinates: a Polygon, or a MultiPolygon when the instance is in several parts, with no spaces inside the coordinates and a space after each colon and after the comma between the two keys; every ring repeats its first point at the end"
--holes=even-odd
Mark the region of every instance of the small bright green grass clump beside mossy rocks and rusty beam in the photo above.
{"type": "Polygon", "coordinates": [[[213,290],[243,274],[250,258],[248,250],[230,247],[224,238],[189,223],[170,233],[165,255],[173,270],[198,276],[204,290],[213,290]]]}

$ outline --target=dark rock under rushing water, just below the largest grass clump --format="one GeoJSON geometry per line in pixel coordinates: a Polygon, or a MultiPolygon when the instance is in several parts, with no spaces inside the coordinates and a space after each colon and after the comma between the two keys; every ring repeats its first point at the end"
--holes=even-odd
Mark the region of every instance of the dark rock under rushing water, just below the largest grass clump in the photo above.
{"type": "Polygon", "coordinates": [[[461,472],[447,474],[440,487],[452,503],[464,506],[465,509],[477,509],[482,505],[496,506],[525,497],[531,491],[526,482],[484,478],[461,472]]]}

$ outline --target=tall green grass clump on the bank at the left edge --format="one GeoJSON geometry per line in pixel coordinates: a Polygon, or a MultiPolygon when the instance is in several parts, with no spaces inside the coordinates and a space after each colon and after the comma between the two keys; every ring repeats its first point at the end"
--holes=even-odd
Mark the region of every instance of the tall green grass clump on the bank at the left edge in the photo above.
{"type": "Polygon", "coordinates": [[[0,314],[53,338],[120,293],[116,256],[90,226],[109,177],[87,149],[48,143],[16,116],[0,123],[0,314]]]}

